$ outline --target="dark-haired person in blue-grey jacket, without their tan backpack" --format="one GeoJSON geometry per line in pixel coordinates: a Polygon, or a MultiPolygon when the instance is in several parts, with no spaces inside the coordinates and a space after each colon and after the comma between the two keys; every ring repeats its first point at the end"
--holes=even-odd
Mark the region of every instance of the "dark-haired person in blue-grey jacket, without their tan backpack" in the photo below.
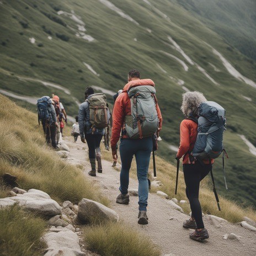
{"type": "Polygon", "coordinates": [[[105,129],[95,129],[92,132],[92,124],[90,123],[90,109],[88,99],[94,94],[92,87],[87,87],[84,93],[86,101],[79,106],[78,123],[81,141],[88,144],[89,160],[92,170],[89,171],[90,176],[96,176],[96,159],[98,162],[98,173],[102,173],[102,158],[100,152],[100,141],[105,133],[105,129]],[[86,142],[85,142],[86,141],[86,142]]]}

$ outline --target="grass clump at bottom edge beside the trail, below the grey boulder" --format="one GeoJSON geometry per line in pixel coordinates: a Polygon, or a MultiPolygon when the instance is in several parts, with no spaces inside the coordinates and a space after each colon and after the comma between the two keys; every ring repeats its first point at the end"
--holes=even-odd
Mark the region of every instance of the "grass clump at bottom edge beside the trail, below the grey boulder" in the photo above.
{"type": "Polygon", "coordinates": [[[104,256],[160,256],[159,248],[145,234],[119,223],[84,228],[88,249],[104,256]]]}

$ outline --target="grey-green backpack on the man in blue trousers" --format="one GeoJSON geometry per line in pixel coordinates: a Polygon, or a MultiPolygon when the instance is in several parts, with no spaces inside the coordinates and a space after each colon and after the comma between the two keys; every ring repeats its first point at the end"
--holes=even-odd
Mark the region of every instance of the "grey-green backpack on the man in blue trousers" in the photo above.
{"type": "Polygon", "coordinates": [[[127,91],[131,99],[131,115],[125,116],[125,130],[130,138],[151,137],[158,129],[156,89],[136,86],[127,91]]]}

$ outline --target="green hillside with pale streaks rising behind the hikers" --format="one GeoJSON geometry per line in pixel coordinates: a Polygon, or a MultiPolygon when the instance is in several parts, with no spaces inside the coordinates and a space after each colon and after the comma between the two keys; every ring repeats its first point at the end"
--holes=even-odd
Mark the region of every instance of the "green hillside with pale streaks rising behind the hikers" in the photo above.
{"type": "Polygon", "coordinates": [[[238,136],[246,136],[256,146],[256,65],[252,60],[168,0],[1,3],[0,93],[13,93],[9,97],[18,95],[31,104],[55,93],[68,115],[74,116],[87,86],[110,90],[106,93],[112,102],[111,94],[124,86],[127,72],[138,68],[142,78],[152,78],[157,86],[164,119],[158,155],[174,162],[170,146],[179,143],[182,93],[200,90],[227,110],[230,191],[224,191],[221,159],[215,164],[218,191],[256,205],[256,156],[238,136]],[[226,63],[228,72],[225,60],[235,70],[226,63]]]}

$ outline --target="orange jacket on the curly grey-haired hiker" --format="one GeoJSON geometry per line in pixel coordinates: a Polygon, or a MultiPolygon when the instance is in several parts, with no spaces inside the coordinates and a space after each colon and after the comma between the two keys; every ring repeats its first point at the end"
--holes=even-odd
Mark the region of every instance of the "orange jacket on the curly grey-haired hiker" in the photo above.
{"type": "MultiPolygon", "coordinates": [[[[190,119],[184,119],[180,123],[180,146],[177,153],[177,157],[180,159],[183,157],[183,164],[191,164],[188,152],[192,152],[195,146],[196,137],[198,136],[198,124],[190,119]]],[[[208,160],[204,163],[209,163],[208,160]]],[[[211,159],[211,163],[214,160],[211,159]]]]}

